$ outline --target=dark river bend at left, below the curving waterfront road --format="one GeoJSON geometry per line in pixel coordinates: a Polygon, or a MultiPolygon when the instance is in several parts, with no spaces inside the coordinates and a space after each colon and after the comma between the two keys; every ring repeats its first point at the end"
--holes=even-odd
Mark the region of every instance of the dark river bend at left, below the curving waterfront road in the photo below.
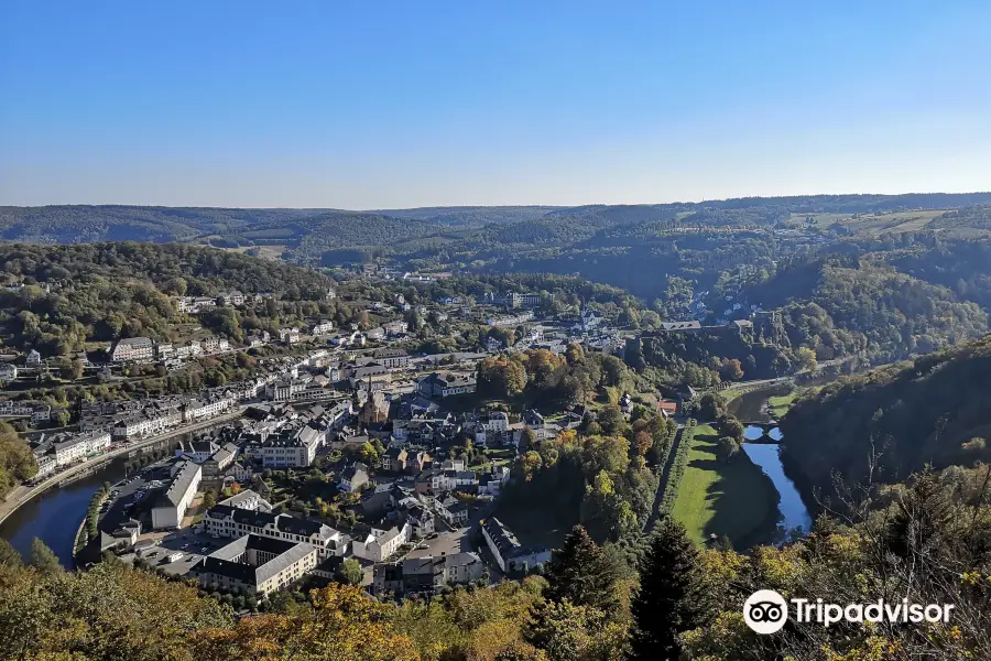
{"type": "Polygon", "coordinates": [[[73,543],[76,531],[86,518],[89,501],[100,485],[105,481],[115,483],[139,464],[170,454],[181,440],[188,437],[188,434],[183,434],[163,440],[133,451],[132,457],[117,457],[96,473],[65,487],[48,489],[22,505],[0,523],[0,538],[9,541],[25,559],[31,554],[34,538],[37,538],[55,552],[66,568],[74,568],[73,543]]]}

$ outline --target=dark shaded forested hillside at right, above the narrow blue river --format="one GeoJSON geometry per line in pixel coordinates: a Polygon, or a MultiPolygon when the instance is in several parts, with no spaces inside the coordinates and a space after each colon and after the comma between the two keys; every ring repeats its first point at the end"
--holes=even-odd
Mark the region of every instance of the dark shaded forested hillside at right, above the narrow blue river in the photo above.
{"type": "Polygon", "coordinates": [[[899,483],[926,464],[991,460],[991,336],[826,386],[781,422],[785,454],[808,487],[899,483]]]}

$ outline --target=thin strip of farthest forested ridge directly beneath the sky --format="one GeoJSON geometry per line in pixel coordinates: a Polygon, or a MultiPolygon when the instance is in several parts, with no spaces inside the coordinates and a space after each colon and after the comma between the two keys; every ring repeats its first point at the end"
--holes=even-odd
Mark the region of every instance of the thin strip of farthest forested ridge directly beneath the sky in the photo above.
{"type": "Polygon", "coordinates": [[[216,239],[242,246],[281,242],[301,247],[304,239],[316,235],[323,238],[308,248],[303,247],[327,249],[384,246],[450,229],[554,223],[559,218],[597,227],[672,220],[699,225],[770,225],[792,214],[874,214],[983,204],[991,204],[991,193],[810,195],[660,205],[429,207],[382,212],[63,205],[0,207],[0,237],[9,241],[59,243],[216,239]]]}

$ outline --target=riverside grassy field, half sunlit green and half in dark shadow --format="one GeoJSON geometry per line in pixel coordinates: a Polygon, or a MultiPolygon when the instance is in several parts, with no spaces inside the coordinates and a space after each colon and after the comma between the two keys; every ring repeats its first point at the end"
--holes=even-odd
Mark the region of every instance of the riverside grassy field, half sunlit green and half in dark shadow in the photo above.
{"type": "Polygon", "coordinates": [[[717,462],[717,440],[710,425],[698,426],[672,514],[697,544],[715,533],[745,550],[771,539],[777,494],[745,455],[731,464],[717,462]]]}

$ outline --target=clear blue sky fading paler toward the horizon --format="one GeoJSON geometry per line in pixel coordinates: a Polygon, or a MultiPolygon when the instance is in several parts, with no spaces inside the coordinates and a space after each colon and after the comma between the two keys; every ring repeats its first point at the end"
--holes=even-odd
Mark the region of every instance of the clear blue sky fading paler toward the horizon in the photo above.
{"type": "Polygon", "coordinates": [[[991,189],[991,1],[0,1],[0,204],[991,189]]]}

